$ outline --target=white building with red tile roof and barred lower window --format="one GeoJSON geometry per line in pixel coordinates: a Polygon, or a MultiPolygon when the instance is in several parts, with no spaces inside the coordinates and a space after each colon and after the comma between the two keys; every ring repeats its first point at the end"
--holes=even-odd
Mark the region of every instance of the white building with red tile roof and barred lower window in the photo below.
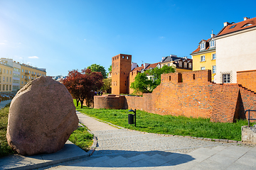
{"type": "Polygon", "coordinates": [[[256,69],[256,18],[224,23],[216,40],[216,83],[237,83],[237,72],[256,69]]]}

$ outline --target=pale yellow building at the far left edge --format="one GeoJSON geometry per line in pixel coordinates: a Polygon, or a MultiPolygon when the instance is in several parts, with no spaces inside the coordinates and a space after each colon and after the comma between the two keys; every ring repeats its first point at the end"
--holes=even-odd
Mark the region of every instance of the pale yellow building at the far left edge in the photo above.
{"type": "Polygon", "coordinates": [[[12,91],[13,67],[6,62],[0,62],[0,91],[12,91]]]}

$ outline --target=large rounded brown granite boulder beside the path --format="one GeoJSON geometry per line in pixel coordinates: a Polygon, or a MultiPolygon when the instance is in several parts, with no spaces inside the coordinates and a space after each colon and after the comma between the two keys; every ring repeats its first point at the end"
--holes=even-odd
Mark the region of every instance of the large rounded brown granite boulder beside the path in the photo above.
{"type": "Polygon", "coordinates": [[[39,77],[11,101],[6,138],[19,154],[53,153],[77,127],[73,98],[65,86],[39,77]]]}

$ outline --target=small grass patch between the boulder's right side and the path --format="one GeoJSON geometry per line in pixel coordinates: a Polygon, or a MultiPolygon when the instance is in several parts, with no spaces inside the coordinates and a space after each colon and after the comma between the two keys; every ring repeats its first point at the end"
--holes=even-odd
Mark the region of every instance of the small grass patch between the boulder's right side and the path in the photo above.
{"type": "Polygon", "coordinates": [[[70,135],[68,140],[88,152],[93,143],[92,138],[93,135],[86,128],[78,128],[70,135]]]}

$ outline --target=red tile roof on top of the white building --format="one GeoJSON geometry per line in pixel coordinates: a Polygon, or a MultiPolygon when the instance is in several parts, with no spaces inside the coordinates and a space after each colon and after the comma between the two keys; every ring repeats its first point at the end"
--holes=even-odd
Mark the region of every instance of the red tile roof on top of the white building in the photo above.
{"type": "Polygon", "coordinates": [[[244,30],[244,29],[251,28],[251,27],[254,27],[254,26],[256,26],[256,17],[251,18],[251,19],[247,19],[246,21],[241,21],[239,23],[230,24],[230,25],[226,26],[225,28],[223,28],[223,30],[221,30],[220,33],[218,33],[217,36],[225,35],[225,34],[228,34],[228,33],[233,33],[235,31],[244,30]],[[247,23],[252,24],[252,26],[243,27],[247,23]],[[232,26],[235,26],[235,27],[231,28],[232,26]]]}

